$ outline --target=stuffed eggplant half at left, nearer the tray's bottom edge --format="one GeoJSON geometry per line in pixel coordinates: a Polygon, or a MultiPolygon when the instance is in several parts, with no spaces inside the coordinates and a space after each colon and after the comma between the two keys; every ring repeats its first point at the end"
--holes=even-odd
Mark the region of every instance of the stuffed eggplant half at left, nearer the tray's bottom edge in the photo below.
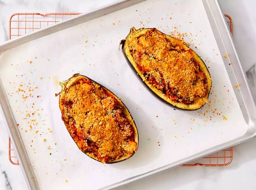
{"type": "Polygon", "coordinates": [[[108,89],[83,75],[60,82],[62,120],[82,152],[102,163],[130,158],[138,131],[127,107],[108,89]]]}

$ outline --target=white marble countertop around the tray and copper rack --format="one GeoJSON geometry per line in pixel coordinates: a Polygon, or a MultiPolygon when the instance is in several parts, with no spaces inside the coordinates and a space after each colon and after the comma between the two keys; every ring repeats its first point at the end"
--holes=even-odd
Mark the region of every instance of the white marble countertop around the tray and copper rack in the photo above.
{"type": "MultiPolygon", "coordinates": [[[[8,40],[8,20],[15,12],[84,12],[114,0],[0,0],[0,42],[8,40]]],[[[255,63],[256,2],[253,0],[220,0],[223,12],[234,22],[234,40],[246,71],[255,63]]],[[[256,95],[255,67],[247,72],[256,95]]],[[[26,190],[19,166],[8,160],[8,133],[0,117],[0,189],[26,190]]],[[[134,189],[256,189],[256,139],[234,147],[234,159],[227,167],[177,167],[143,179],[120,190],[134,189]]]]}

